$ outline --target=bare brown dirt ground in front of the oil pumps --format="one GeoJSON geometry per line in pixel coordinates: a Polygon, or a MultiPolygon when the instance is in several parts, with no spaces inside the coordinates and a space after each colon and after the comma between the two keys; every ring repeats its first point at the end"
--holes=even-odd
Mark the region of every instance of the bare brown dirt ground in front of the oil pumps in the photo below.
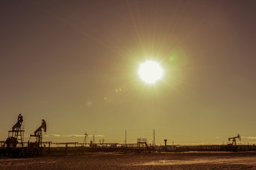
{"type": "Polygon", "coordinates": [[[0,169],[256,169],[256,152],[87,153],[0,159],[0,169]]]}

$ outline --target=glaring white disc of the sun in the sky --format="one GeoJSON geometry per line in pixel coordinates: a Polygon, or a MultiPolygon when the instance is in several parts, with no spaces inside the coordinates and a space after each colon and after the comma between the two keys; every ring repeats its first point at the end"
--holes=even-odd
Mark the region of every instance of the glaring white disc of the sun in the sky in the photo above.
{"type": "Polygon", "coordinates": [[[139,65],[139,77],[145,83],[156,83],[163,77],[163,68],[158,62],[146,61],[139,65]]]}

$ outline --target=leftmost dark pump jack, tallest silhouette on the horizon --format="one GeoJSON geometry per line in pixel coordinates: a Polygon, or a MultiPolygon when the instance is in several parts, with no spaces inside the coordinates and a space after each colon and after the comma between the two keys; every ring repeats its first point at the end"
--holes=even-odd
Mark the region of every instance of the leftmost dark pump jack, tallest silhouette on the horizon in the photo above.
{"type": "MultiPolygon", "coordinates": [[[[17,123],[12,127],[12,130],[8,132],[8,138],[5,141],[5,144],[8,148],[10,147],[17,147],[17,144],[21,144],[23,147],[23,135],[24,130],[21,129],[23,123],[23,116],[19,114],[17,123]]],[[[5,147],[4,144],[4,147],[5,147]]]]}

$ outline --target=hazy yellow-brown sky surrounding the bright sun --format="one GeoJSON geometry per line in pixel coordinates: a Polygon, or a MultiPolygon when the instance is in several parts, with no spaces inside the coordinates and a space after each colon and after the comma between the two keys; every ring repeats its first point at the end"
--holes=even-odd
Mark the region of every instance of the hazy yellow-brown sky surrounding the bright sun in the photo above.
{"type": "Polygon", "coordinates": [[[1,1],[0,141],[21,113],[25,141],[44,119],[44,141],[256,144],[255,18],[254,0],[1,1]]]}

